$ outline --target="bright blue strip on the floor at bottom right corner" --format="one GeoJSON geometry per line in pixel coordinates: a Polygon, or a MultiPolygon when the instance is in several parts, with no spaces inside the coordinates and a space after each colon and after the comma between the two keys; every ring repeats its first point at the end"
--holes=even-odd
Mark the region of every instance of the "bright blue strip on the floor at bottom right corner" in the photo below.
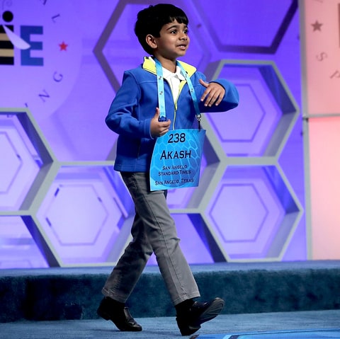
{"type": "Polygon", "coordinates": [[[340,328],[329,330],[280,331],[246,334],[203,334],[193,335],[191,339],[324,339],[340,338],[340,328]]]}

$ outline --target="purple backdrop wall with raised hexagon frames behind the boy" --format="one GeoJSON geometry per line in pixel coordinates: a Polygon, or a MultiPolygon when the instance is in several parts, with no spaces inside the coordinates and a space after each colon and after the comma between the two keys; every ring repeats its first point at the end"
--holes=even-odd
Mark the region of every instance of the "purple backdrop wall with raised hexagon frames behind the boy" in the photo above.
{"type": "MultiPolygon", "coordinates": [[[[123,253],[134,207],[104,119],[145,56],[137,12],[157,3],[2,4],[0,268],[114,265],[123,253]]],[[[168,193],[188,262],[304,260],[297,0],[172,3],[189,18],[183,61],[240,94],[238,108],[203,117],[200,185],[168,193]]]]}

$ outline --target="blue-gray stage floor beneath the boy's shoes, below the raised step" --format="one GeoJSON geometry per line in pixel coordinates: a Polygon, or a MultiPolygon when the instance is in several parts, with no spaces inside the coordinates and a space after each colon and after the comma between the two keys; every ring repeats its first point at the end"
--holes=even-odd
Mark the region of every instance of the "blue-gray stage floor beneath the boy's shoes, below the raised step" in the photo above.
{"type": "Polygon", "coordinates": [[[101,319],[0,323],[0,337],[3,339],[340,338],[340,310],[222,314],[212,321],[203,323],[202,328],[195,335],[188,337],[181,337],[174,317],[136,318],[136,320],[143,326],[142,332],[120,332],[113,323],[101,319]],[[313,332],[313,330],[318,331],[313,332]]]}

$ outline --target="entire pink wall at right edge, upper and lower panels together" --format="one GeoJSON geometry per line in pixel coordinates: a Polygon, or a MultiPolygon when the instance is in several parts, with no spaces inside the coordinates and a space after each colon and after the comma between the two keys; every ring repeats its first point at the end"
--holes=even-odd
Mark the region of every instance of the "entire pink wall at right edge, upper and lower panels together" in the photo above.
{"type": "Polygon", "coordinates": [[[340,3],[305,0],[300,4],[310,151],[310,256],[339,259],[340,3]]]}

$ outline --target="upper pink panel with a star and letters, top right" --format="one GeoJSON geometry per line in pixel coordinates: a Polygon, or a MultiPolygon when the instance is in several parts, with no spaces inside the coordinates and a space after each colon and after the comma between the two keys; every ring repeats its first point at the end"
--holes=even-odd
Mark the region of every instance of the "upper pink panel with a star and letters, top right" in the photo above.
{"type": "Polygon", "coordinates": [[[303,1],[308,114],[340,111],[338,0],[303,1]]]}

